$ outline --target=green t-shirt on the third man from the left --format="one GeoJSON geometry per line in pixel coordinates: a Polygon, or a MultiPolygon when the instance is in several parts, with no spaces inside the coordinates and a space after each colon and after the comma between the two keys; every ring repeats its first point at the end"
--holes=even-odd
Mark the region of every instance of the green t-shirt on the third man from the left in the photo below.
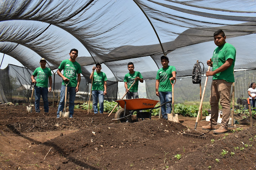
{"type": "Polygon", "coordinates": [[[102,71],[100,73],[94,72],[92,90],[104,91],[104,81],[107,81],[107,76],[102,71]]]}

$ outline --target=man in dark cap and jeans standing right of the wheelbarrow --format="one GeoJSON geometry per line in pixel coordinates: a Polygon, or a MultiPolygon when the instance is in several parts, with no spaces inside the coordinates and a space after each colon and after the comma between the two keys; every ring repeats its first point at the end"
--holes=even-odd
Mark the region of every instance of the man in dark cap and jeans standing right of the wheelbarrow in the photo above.
{"type": "Polygon", "coordinates": [[[167,56],[161,57],[161,64],[163,68],[160,68],[157,71],[157,77],[155,78],[155,94],[160,98],[160,103],[163,104],[165,102],[167,103],[163,106],[161,106],[162,116],[163,119],[168,119],[167,114],[171,113],[171,100],[172,100],[172,94],[171,94],[171,83],[170,80],[173,83],[173,80],[176,79],[176,68],[174,66],[169,66],[169,59],[167,56]]]}

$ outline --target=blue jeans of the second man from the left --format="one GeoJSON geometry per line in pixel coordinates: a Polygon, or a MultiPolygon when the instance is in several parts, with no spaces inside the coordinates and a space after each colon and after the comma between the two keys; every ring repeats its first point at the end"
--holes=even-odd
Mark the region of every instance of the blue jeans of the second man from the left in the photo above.
{"type": "MultiPolygon", "coordinates": [[[[66,86],[61,85],[61,96],[60,103],[58,105],[57,118],[60,117],[60,111],[63,111],[65,105],[65,89],[66,86]]],[[[68,111],[70,112],[69,117],[73,117],[75,98],[76,98],[76,87],[67,87],[67,93],[69,93],[69,106],[68,111]]],[[[67,94],[68,95],[68,94],[67,94]]]]}

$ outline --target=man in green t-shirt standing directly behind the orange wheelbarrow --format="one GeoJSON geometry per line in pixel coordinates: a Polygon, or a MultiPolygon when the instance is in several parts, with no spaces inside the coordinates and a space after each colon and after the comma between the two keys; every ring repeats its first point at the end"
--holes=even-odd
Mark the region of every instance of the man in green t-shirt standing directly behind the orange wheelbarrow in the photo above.
{"type": "Polygon", "coordinates": [[[129,73],[127,73],[124,76],[124,87],[126,88],[126,99],[136,99],[139,98],[138,94],[138,85],[139,81],[143,83],[143,77],[138,71],[134,71],[134,65],[132,62],[128,63],[128,70],[129,73]],[[134,84],[133,82],[136,81],[134,84]],[[133,84],[133,86],[130,88],[130,86],[133,84]],[[130,88],[130,90],[128,90],[130,88]]]}

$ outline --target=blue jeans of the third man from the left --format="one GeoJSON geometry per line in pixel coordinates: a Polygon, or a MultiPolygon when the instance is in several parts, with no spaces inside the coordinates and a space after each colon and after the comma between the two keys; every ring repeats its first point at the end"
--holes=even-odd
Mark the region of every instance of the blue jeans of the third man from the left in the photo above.
{"type": "Polygon", "coordinates": [[[94,113],[98,113],[98,98],[99,98],[99,113],[103,113],[103,101],[104,95],[103,91],[100,90],[93,90],[92,91],[92,100],[93,100],[93,111],[94,113]]]}

